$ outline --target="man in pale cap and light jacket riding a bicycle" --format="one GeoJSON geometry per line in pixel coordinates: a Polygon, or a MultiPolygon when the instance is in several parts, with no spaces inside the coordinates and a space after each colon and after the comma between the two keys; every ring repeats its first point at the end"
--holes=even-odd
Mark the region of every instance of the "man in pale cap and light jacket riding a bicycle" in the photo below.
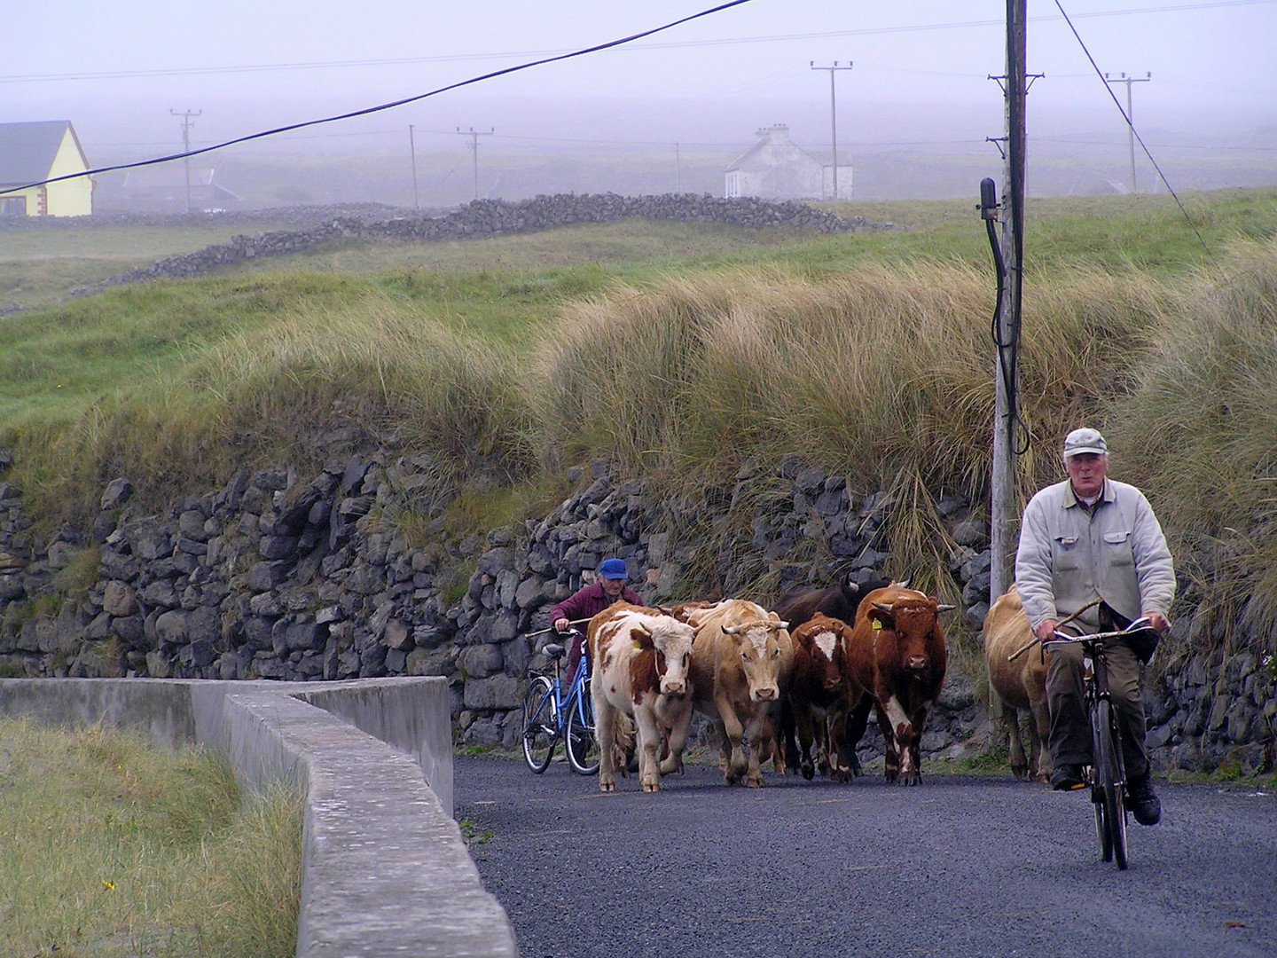
{"type": "MultiPolygon", "coordinates": [[[[1108,445],[1096,429],[1074,429],[1064,441],[1069,478],[1039,490],[1024,510],[1015,582],[1024,613],[1039,640],[1070,618],[1084,632],[1125,628],[1147,616],[1157,632],[1170,626],[1175,567],[1148,499],[1134,485],[1107,478],[1108,445]]],[[[1139,664],[1151,648],[1121,644],[1105,653],[1117,711],[1131,811],[1156,825],[1162,806],[1153,791],[1144,747],[1144,703],[1139,664]]],[[[1082,788],[1092,764],[1091,723],[1083,704],[1082,649],[1051,657],[1046,677],[1051,713],[1051,787],[1082,788]]]]}

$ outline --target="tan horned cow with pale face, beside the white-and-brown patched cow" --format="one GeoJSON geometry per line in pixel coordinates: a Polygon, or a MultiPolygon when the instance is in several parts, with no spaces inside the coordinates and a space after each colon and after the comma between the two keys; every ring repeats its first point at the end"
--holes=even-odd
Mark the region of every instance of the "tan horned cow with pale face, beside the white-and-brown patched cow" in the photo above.
{"type": "Polygon", "coordinates": [[[723,742],[727,784],[762,784],[760,752],[775,756],[780,690],[793,668],[787,622],[743,599],[695,609],[692,691],[696,708],[711,718],[723,742]]]}

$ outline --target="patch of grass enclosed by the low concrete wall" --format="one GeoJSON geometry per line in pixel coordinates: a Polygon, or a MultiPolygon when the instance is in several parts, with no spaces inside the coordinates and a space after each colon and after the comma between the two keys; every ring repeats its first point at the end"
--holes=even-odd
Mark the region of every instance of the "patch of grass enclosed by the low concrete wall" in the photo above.
{"type": "Polygon", "coordinates": [[[0,719],[0,954],[283,958],[301,803],[225,761],[0,719]]]}

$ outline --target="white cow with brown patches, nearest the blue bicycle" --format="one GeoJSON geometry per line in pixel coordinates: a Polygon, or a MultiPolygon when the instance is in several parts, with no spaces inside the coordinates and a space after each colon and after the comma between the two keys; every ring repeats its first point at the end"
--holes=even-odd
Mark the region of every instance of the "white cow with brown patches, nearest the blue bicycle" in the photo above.
{"type": "Polygon", "coordinates": [[[638,782],[660,791],[660,775],[682,766],[692,722],[688,665],[693,630],[658,609],[617,603],[590,620],[586,640],[594,677],[595,734],[599,738],[599,789],[617,788],[614,737],[621,715],[632,715],[638,732],[638,782]],[[667,741],[669,755],[658,764],[667,741]]]}

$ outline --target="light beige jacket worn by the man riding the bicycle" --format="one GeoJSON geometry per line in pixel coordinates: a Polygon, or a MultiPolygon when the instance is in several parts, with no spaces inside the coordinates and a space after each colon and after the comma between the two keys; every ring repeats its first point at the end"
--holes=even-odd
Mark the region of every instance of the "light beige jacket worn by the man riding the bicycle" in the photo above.
{"type": "MultiPolygon", "coordinates": [[[[1065,479],[1038,492],[1024,510],[1015,582],[1034,628],[1096,597],[1126,618],[1149,612],[1170,617],[1175,566],[1144,493],[1105,479],[1102,501],[1088,513],[1065,479]]],[[[1093,608],[1078,621],[1099,626],[1093,608]]]]}

